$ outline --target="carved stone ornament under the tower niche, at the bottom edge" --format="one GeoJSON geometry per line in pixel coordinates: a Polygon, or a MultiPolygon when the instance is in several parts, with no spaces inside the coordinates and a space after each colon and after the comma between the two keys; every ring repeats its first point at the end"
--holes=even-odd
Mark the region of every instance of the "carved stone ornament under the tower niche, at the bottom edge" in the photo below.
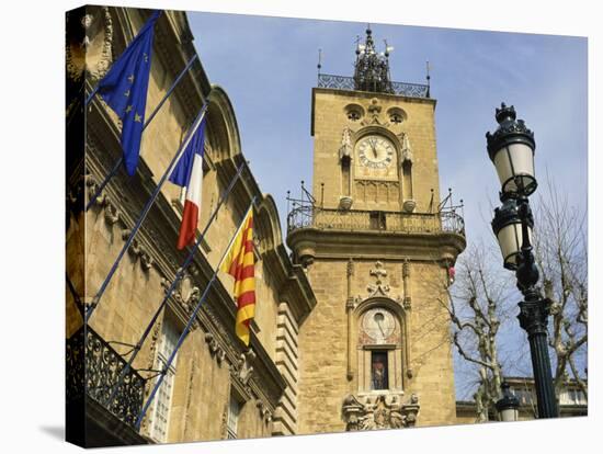
{"type": "Polygon", "coordinates": [[[343,400],[342,418],[346,431],[400,429],[413,427],[419,413],[419,398],[413,394],[402,402],[402,395],[355,397],[343,400]]]}

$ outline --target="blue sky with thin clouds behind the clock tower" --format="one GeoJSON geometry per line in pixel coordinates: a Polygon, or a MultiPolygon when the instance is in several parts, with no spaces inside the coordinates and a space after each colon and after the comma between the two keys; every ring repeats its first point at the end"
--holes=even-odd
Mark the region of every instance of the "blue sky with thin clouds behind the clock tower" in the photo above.
{"type": "MultiPolygon", "coordinates": [[[[365,23],[189,13],[195,46],[213,83],[235,107],[242,150],[262,191],[280,209],[287,190],[311,182],[311,88],[322,72],[352,76],[365,23]]],[[[587,39],[583,37],[372,24],[379,47],[395,47],[391,78],[424,83],[431,64],[437,100],[441,193],[465,201],[468,241],[491,240],[499,183],[486,151],[494,107],[513,104],[536,138],[536,171],[571,204],[587,207],[587,39]]],[[[536,201],[534,201],[536,202],[536,201]]],[[[519,328],[516,328],[519,330],[519,328]]],[[[509,332],[516,337],[521,332],[509,332]]],[[[458,387],[457,387],[457,394],[458,387]]],[[[460,393],[462,394],[462,393],[460,393]]],[[[464,397],[464,396],[458,396],[464,397]]]]}

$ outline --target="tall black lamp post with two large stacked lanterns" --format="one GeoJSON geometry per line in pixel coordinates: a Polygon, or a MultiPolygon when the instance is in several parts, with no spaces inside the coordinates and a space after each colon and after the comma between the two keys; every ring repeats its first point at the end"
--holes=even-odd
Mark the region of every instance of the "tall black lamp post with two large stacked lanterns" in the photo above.
{"type": "Polygon", "coordinates": [[[497,236],[503,265],[515,271],[517,288],[524,300],[519,304],[520,326],[527,332],[532,367],[538,401],[538,418],[557,418],[557,401],[548,356],[547,321],[550,300],[537,286],[539,273],[532,253],[534,218],[528,196],[536,191],[534,175],[534,133],[523,120],[515,120],[515,109],[501,104],[496,113],[498,129],[486,133],[488,155],[501,184],[502,206],[494,209],[492,229],[497,236]]]}

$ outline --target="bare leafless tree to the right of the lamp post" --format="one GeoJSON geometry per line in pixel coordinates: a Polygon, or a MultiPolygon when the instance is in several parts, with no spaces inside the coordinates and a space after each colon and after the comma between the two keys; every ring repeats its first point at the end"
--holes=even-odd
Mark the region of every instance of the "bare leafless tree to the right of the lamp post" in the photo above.
{"type": "Polygon", "coordinates": [[[534,252],[545,295],[553,302],[549,345],[555,360],[555,394],[571,377],[588,399],[587,213],[570,205],[547,179],[534,211],[534,252]],[[544,193],[544,194],[543,194],[544,193]]]}

